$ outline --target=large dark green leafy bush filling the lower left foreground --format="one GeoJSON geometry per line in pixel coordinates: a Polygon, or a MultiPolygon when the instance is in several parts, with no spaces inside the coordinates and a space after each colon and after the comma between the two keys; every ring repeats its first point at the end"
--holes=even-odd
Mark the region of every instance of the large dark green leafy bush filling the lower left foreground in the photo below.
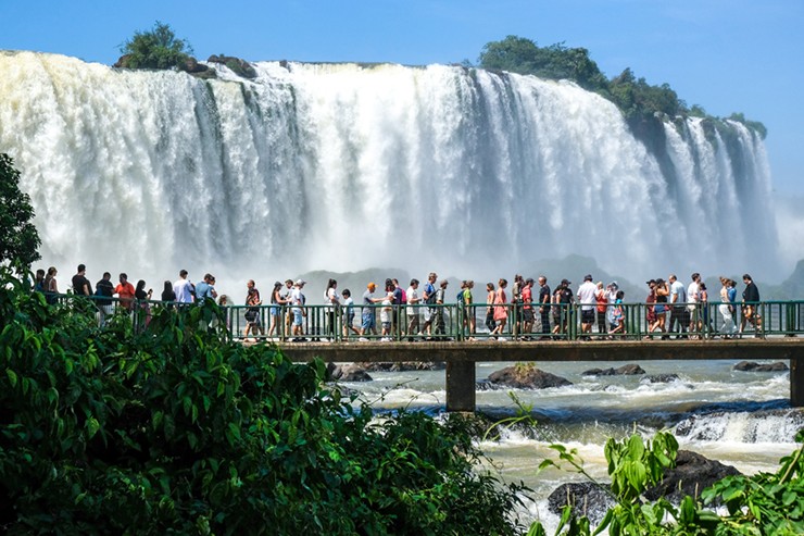
{"type": "Polygon", "coordinates": [[[89,300],[51,307],[2,272],[0,529],[517,532],[520,488],[477,470],[462,420],[377,421],[323,387],[323,362],[235,344],[222,314],[206,300],[100,329],[89,300]]]}

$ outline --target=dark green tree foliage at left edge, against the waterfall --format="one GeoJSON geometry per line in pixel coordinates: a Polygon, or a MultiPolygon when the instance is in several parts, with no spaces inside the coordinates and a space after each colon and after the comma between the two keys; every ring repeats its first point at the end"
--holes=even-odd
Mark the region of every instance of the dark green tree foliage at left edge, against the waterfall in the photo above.
{"type": "Polygon", "coordinates": [[[11,157],[0,153],[0,262],[28,269],[41,258],[33,219],[30,197],[20,190],[20,172],[11,157]]]}

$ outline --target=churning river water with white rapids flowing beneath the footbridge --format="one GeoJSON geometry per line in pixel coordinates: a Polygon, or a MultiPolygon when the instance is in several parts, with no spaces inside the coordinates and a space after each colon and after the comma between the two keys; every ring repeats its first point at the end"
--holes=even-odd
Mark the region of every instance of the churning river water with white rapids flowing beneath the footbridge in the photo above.
{"type": "MultiPolygon", "coordinates": [[[[797,448],[794,437],[804,427],[804,413],[789,407],[787,373],[733,371],[738,361],[641,363],[648,374],[678,374],[679,379],[670,383],[648,383],[642,376],[583,375],[583,371],[601,365],[595,362],[541,363],[540,369],[566,377],[573,385],[514,389],[524,404],[532,404],[537,424],[503,428],[499,440],[480,446],[495,462],[495,468],[489,469],[535,490],[535,502],[525,516],[540,519],[553,528],[558,519],[548,509],[548,496],[563,483],[585,478],[571,471],[538,471],[545,458],[557,461],[549,448],[552,444],[576,449],[587,472],[600,482],[607,482],[603,446],[610,437],[623,439],[636,432],[649,438],[658,429],[674,432],[680,448],[733,465],[744,474],[775,472],[779,459],[797,448]]],[[[510,364],[478,363],[477,377],[483,379],[510,364]]],[[[443,411],[443,371],[370,374],[373,382],[347,386],[363,392],[376,409],[443,411]]],[[[499,419],[516,414],[506,389],[479,390],[477,403],[481,411],[499,419]]]]}

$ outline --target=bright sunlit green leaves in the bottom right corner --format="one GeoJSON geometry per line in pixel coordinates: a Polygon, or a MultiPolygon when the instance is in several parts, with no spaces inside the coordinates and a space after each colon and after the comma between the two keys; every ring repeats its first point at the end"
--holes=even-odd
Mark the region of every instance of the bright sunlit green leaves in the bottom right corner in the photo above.
{"type": "MultiPolygon", "coordinates": [[[[804,432],[796,441],[804,441],[804,432]]],[[[679,506],[665,498],[651,503],[645,490],[657,484],[664,471],[675,465],[678,442],[669,433],[657,433],[643,442],[638,435],[623,441],[610,439],[605,446],[611,487],[602,486],[583,470],[583,461],[576,450],[562,445],[551,446],[558,460],[574,471],[586,475],[616,500],[594,528],[586,518],[575,519],[570,507],[565,507],[556,536],[589,536],[604,529],[619,535],[799,535],[804,534],[804,445],[791,456],[782,458],[779,471],[755,476],[728,476],[701,494],[703,502],[690,496],[679,506]],[[726,504],[728,515],[720,516],[708,507],[726,504]]],[[[545,460],[540,468],[560,466],[545,460]]],[[[544,536],[541,523],[533,523],[528,535],[544,536]]]]}

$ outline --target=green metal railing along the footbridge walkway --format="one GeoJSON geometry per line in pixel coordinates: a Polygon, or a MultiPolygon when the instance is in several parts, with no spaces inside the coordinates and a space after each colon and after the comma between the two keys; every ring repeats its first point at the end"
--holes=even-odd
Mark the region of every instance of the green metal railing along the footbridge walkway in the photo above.
{"type": "MultiPolygon", "coordinates": [[[[76,295],[46,295],[50,301],[66,302],[76,295]]],[[[159,300],[121,300],[101,296],[83,297],[97,307],[97,319],[103,324],[109,315],[131,314],[135,328],[146,329],[152,308],[175,308],[186,303],[159,300]],[[106,303],[106,304],[104,304],[106,303]]],[[[650,338],[701,338],[740,336],[797,336],[804,335],[804,300],[769,300],[759,302],[724,303],[644,303],[629,302],[605,306],[603,325],[600,325],[598,304],[592,308],[591,331],[585,331],[585,306],[573,303],[532,303],[528,309],[522,303],[488,304],[354,304],[350,324],[349,310],[341,306],[305,304],[303,314],[294,319],[292,306],[224,306],[226,324],[236,338],[253,338],[289,342],[355,341],[355,340],[583,340],[583,339],[650,339],[650,338]],[[666,307],[657,312],[658,306],[666,307]],[[751,310],[749,309],[751,308],[751,310]],[[612,314],[619,309],[621,327],[614,331],[612,314]],[[491,316],[487,314],[491,311],[491,316]],[[487,327],[493,321],[493,312],[504,311],[504,325],[497,334],[487,327]],[[652,313],[652,314],[649,314],[652,313]],[[655,314],[655,315],[654,315],[655,314]],[[664,316],[663,321],[658,321],[664,316]],[[367,322],[364,322],[364,317],[367,322]],[[382,321],[390,319],[382,331],[382,321]],[[374,319],[372,321],[372,319],[374,319]],[[472,320],[474,319],[474,324],[472,320]],[[531,320],[532,319],[532,320],[531,320]],[[655,319],[655,320],[654,320],[655,319]],[[292,324],[301,320],[294,333],[292,324]],[[547,323],[547,329],[545,324],[547,323]],[[361,334],[362,324],[375,326],[361,334]],[[679,325],[680,324],[680,325],[679,325]],[[473,331],[472,326],[476,326],[473,331]],[[662,331],[664,326],[664,331],[662,331]],[[680,328],[683,326],[683,329],[680,328]],[[669,328],[674,331],[670,332],[669,328]],[[527,329],[526,329],[527,328],[527,329]]],[[[588,313],[587,313],[588,314],[588,313]]]]}

